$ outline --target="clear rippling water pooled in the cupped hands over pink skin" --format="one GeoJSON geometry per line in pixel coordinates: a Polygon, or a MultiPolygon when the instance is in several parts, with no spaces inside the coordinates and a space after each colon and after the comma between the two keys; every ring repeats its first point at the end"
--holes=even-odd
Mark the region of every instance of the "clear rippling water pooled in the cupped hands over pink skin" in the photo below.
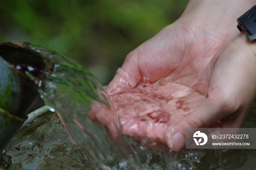
{"type": "MultiPolygon", "coordinates": [[[[110,95],[121,131],[137,140],[147,139],[155,150],[163,150],[167,129],[196,109],[205,96],[195,89],[162,78],[151,83],[140,80],[130,90],[110,95]]],[[[145,142],[145,141],[144,141],[145,142]]]]}

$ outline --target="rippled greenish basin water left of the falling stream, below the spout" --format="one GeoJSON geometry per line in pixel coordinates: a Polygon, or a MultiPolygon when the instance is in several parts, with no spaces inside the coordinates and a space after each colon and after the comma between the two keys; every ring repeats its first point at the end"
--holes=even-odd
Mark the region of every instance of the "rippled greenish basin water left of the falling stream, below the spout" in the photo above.
{"type": "Polygon", "coordinates": [[[10,170],[89,169],[90,165],[65,132],[57,114],[47,107],[42,111],[29,114],[26,123],[5,147],[4,167],[10,170]]]}

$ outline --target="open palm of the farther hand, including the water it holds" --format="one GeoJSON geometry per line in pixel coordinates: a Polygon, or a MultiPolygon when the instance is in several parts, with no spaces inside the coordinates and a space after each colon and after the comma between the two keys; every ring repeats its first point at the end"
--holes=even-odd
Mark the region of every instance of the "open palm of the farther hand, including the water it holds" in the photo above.
{"type": "Polygon", "coordinates": [[[153,146],[167,144],[173,126],[206,99],[210,62],[223,43],[171,29],[131,52],[107,88],[122,132],[153,146]]]}

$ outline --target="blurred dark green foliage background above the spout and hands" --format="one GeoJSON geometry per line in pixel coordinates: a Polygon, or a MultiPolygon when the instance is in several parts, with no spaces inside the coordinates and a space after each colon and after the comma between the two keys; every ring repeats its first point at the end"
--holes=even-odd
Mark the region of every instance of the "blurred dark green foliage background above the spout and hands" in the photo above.
{"type": "Polygon", "coordinates": [[[2,0],[0,42],[27,41],[74,58],[102,84],[126,55],[182,14],[188,0],[2,0]]]}

